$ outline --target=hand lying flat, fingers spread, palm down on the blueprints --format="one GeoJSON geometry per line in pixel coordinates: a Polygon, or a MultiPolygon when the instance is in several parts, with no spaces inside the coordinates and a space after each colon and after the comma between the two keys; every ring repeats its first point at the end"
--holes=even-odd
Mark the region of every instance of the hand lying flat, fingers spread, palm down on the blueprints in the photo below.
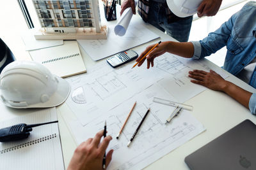
{"type": "Polygon", "coordinates": [[[217,74],[215,71],[210,70],[210,72],[205,72],[202,70],[193,70],[189,71],[190,78],[195,80],[191,80],[192,83],[196,83],[198,85],[203,85],[212,90],[223,91],[225,87],[227,87],[228,81],[224,80],[220,74],[217,74]]]}

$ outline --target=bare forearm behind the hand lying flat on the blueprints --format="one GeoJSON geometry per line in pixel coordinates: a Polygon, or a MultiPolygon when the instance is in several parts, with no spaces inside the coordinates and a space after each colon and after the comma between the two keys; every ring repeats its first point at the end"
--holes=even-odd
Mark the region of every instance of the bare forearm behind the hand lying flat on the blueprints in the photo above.
{"type": "Polygon", "coordinates": [[[239,103],[243,104],[246,108],[249,108],[250,97],[252,96],[251,92],[248,92],[241,87],[238,87],[230,81],[226,81],[225,87],[223,87],[223,92],[228,94],[228,96],[234,98],[239,103]]]}

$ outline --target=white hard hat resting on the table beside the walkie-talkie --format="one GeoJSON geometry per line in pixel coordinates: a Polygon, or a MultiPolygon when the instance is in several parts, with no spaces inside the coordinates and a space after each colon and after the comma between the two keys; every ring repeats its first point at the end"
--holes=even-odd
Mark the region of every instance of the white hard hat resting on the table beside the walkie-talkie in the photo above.
{"type": "Polygon", "coordinates": [[[12,108],[49,108],[63,103],[70,92],[66,80],[42,64],[14,61],[0,75],[0,97],[12,108]]]}

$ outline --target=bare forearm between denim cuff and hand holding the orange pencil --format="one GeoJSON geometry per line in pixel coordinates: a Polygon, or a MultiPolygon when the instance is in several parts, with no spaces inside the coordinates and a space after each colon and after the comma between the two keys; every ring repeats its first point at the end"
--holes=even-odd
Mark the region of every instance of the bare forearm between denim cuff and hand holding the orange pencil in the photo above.
{"type": "Polygon", "coordinates": [[[194,55],[193,43],[179,43],[174,41],[168,41],[167,52],[179,55],[180,57],[191,58],[194,55]]]}

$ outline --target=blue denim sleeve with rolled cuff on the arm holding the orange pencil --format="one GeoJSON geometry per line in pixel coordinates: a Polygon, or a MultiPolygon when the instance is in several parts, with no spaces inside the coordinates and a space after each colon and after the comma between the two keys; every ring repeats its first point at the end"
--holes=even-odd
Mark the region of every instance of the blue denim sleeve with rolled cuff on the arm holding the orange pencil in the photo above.
{"type": "Polygon", "coordinates": [[[226,46],[237,15],[239,15],[239,11],[232,15],[227,22],[223,23],[219,29],[209,33],[206,38],[200,41],[191,41],[194,45],[193,59],[202,59],[226,46]]]}

